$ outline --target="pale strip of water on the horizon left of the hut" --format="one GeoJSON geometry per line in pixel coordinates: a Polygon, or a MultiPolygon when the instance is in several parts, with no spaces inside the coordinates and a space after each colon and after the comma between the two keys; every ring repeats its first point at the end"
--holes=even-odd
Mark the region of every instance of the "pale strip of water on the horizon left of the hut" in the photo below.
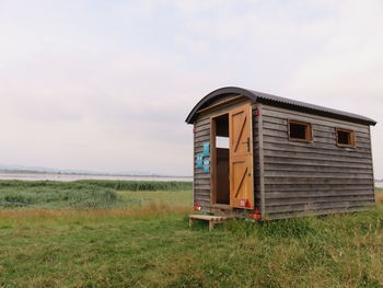
{"type": "Polygon", "coordinates": [[[0,180],[25,180],[25,181],[50,180],[50,181],[63,181],[63,182],[77,181],[77,180],[189,181],[192,182],[193,177],[0,172],[0,180]]]}

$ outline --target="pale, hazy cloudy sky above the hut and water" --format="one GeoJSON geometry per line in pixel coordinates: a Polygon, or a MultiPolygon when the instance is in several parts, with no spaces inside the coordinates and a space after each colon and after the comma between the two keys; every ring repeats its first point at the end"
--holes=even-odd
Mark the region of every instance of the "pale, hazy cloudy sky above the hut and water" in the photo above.
{"type": "Polygon", "coordinates": [[[383,178],[381,0],[0,0],[0,163],[193,173],[185,118],[235,85],[353,112],[383,178]]]}

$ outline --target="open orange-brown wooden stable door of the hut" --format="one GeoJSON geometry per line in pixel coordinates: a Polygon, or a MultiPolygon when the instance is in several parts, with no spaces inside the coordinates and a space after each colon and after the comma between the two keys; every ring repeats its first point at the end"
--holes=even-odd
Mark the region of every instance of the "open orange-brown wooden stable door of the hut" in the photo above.
{"type": "Polygon", "coordinates": [[[229,114],[230,205],[254,207],[252,106],[245,104],[229,114]]]}

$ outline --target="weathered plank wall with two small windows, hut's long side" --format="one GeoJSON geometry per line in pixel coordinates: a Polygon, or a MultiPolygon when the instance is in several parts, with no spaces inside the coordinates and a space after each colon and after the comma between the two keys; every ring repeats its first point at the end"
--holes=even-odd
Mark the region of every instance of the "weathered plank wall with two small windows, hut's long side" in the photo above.
{"type": "Polygon", "coordinates": [[[374,204],[370,127],[263,105],[266,219],[363,210],[374,204]],[[288,139],[288,119],[311,123],[313,142],[288,139]],[[336,145],[335,128],[356,133],[336,145]]]}

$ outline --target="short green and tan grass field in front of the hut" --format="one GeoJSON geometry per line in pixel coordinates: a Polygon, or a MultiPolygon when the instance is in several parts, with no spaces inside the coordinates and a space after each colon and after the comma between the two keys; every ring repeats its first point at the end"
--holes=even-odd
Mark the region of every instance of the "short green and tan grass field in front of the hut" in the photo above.
{"type": "MultiPolygon", "coordinates": [[[[60,193],[78,184],[46,186],[60,193]]],[[[89,185],[83,191],[116,194],[108,204],[142,201],[113,209],[0,209],[0,287],[383,287],[382,206],[231,221],[208,232],[202,223],[187,226],[189,184],[151,191],[89,185]]],[[[0,194],[30,188],[0,183],[0,194]]],[[[383,193],[376,195],[383,204],[383,193]]]]}

